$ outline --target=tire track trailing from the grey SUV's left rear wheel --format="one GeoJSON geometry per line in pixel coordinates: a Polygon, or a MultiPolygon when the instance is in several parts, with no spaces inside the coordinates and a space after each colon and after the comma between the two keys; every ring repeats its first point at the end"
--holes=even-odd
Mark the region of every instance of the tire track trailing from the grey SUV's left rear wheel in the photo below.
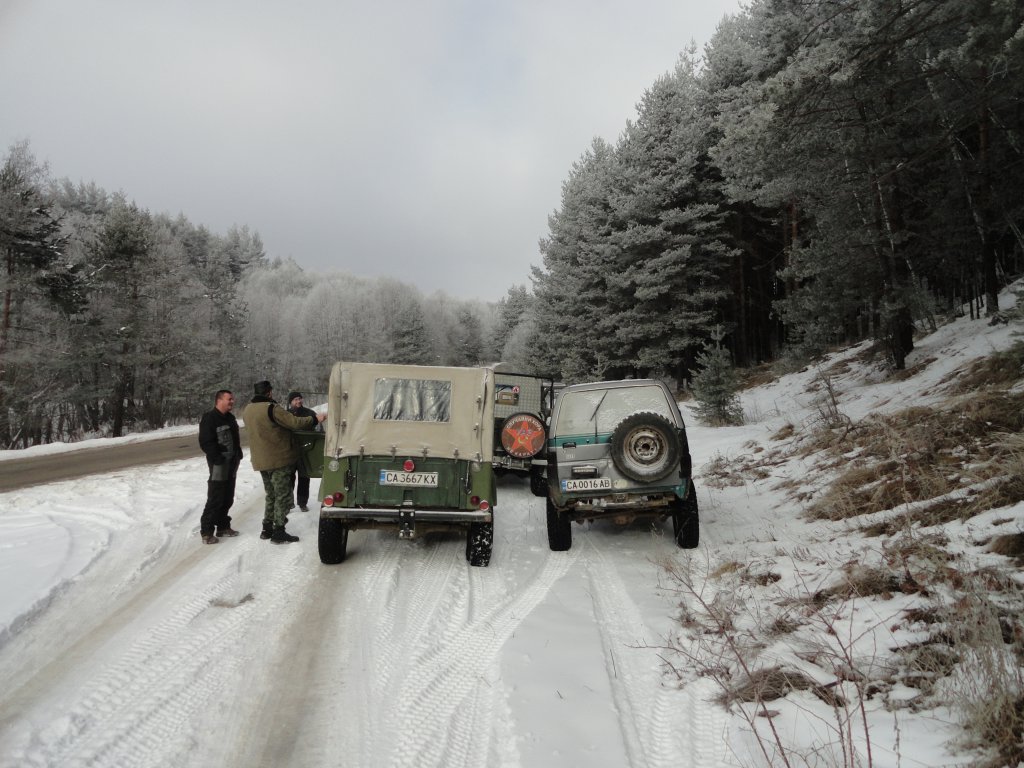
{"type": "Polygon", "coordinates": [[[631,768],[721,764],[724,713],[718,723],[713,719],[717,708],[698,700],[696,689],[666,686],[654,649],[645,647],[652,633],[593,539],[583,562],[631,768]]]}

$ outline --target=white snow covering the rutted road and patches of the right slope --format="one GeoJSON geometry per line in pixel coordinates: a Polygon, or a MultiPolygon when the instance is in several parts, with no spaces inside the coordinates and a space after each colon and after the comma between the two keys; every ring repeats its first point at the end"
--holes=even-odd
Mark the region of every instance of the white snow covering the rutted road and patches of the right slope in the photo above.
{"type": "MultiPolygon", "coordinates": [[[[1012,334],[981,321],[946,326],[919,342],[908,367],[928,365],[901,381],[856,362],[860,349],[835,355],[829,365],[850,360],[835,380],[844,412],[921,404],[1012,334]]],[[[469,567],[456,538],[375,531],[352,534],[346,562],[325,566],[314,512],[293,513],[296,545],[257,538],[262,485],[248,463],[233,510],[243,535],[202,546],[198,449],[195,459],[0,494],[0,767],[763,765],[748,722],[712,702],[714,682],[679,652],[696,653],[680,624],[694,596],[664,565],[711,600],[723,590],[711,574],[728,563],[762,565],[796,590],[871,556],[848,524],[800,515],[780,485],[808,473],[800,459],[739,484],[703,482],[716,460],[777,449],[783,425],[810,428],[816,376],[745,392],[745,426],[688,420],[701,509],[693,552],[672,546],[671,524],[597,523],[552,553],[543,501],[506,479],[487,568],[469,567]]],[[[1024,510],[1000,519],[1020,529],[1024,510]]],[[[892,609],[871,608],[879,624],[892,609]]],[[[878,635],[862,621],[851,611],[833,630],[846,627],[855,653],[870,655],[877,648],[858,643],[878,635]]],[[[827,634],[787,642],[824,645],[827,634]]],[[[777,652],[800,664],[800,650],[777,652]]],[[[864,715],[873,766],[968,762],[948,711],[868,701],[864,715]]],[[[861,736],[851,762],[827,756],[827,718],[795,692],[764,727],[817,745],[809,764],[868,765],[861,736]]]]}

